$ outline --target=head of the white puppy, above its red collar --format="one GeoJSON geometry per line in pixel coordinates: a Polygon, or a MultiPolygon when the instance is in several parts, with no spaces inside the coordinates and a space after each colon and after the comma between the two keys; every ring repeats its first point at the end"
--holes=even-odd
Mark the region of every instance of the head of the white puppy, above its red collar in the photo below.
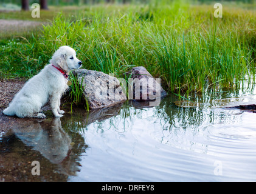
{"type": "Polygon", "coordinates": [[[60,66],[65,72],[81,67],[82,62],[77,59],[75,50],[68,46],[60,47],[50,59],[50,63],[60,66]]]}

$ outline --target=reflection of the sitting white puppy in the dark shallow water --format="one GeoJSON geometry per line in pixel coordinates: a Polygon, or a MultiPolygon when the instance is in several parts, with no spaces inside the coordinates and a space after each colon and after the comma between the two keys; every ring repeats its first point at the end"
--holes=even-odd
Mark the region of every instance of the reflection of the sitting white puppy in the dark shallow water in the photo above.
{"type": "Polygon", "coordinates": [[[12,125],[12,132],[27,147],[40,152],[50,163],[57,164],[58,173],[75,175],[79,171],[77,160],[79,153],[85,152],[85,147],[75,146],[75,142],[62,129],[60,118],[43,121],[20,119],[12,125]]]}

